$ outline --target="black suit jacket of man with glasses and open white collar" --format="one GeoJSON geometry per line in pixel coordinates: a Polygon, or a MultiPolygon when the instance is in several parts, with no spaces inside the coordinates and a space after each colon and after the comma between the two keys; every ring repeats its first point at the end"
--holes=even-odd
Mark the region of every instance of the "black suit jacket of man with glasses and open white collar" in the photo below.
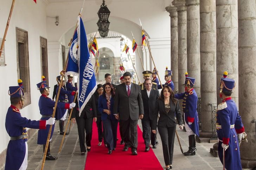
{"type": "Polygon", "coordinates": [[[159,91],[155,89],[151,89],[149,98],[147,94],[147,89],[141,90],[141,96],[143,101],[143,108],[144,108],[144,117],[143,119],[154,119],[154,110],[155,110],[155,103],[156,100],[159,98],[159,91]]]}

